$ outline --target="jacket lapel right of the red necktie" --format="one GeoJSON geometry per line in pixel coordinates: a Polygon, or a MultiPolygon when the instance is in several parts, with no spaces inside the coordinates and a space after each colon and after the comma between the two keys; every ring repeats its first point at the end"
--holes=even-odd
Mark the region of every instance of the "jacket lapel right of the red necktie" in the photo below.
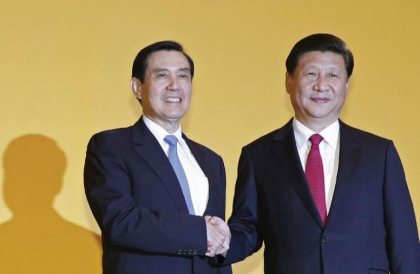
{"type": "Polygon", "coordinates": [[[360,145],[356,141],[355,131],[341,120],[339,122],[340,153],[337,180],[326,225],[328,225],[329,221],[334,220],[334,216],[340,210],[340,205],[347,200],[348,193],[351,193],[349,192],[349,187],[352,187],[352,182],[355,178],[358,178],[358,171],[360,171],[356,168],[361,160],[361,150],[359,149],[360,145]]]}

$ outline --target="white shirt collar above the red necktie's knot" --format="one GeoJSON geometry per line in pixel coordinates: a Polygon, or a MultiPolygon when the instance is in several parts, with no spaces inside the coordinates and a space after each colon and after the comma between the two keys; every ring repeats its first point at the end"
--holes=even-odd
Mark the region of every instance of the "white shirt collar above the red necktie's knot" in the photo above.
{"type": "MultiPolygon", "coordinates": [[[[295,140],[298,150],[300,150],[308,141],[309,137],[311,137],[316,132],[313,132],[309,128],[307,128],[304,124],[299,122],[296,117],[293,118],[293,131],[295,134],[295,140]]],[[[335,120],[330,126],[323,129],[321,132],[319,132],[319,135],[321,135],[324,139],[322,142],[326,142],[328,145],[330,145],[333,150],[337,147],[337,140],[338,135],[340,133],[340,123],[338,122],[338,119],[335,120]]]]}

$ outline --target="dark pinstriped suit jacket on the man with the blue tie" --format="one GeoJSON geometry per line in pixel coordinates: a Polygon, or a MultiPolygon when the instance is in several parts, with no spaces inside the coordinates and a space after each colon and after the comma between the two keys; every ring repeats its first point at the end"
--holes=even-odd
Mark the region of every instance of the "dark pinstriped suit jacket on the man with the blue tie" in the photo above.
{"type": "MultiPolygon", "coordinates": [[[[209,183],[204,215],[224,218],[223,161],[183,136],[209,183]]],[[[95,134],[84,168],[87,201],[102,231],[103,272],[231,273],[205,257],[206,225],[188,214],[175,172],[140,118],[95,134]]]]}

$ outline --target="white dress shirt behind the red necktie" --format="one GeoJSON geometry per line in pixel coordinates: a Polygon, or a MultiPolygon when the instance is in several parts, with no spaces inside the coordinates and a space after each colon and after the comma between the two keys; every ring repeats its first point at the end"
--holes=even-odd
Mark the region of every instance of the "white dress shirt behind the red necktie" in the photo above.
{"type": "MultiPolygon", "coordinates": [[[[293,118],[293,131],[300,163],[305,171],[306,160],[312,145],[309,137],[316,132],[305,127],[296,117],[293,118]]],[[[324,170],[326,212],[329,213],[337,180],[338,157],[340,152],[340,123],[336,120],[318,134],[324,138],[319,143],[319,152],[324,170]]]]}

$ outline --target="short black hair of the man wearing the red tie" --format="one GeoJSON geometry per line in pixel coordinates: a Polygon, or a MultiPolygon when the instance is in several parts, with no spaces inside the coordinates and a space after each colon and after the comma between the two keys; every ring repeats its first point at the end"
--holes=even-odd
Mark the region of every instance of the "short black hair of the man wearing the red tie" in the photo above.
{"type": "Polygon", "coordinates": [[[293,75],[300,57],[307,52],[313,51],[333,52],[341,55],[344,59],[347,78],[350,78],[355,65],[352,52],[347,48],[343,40],[326,33],[312,34],[297,42],[286,59],[287,72],[293,75]]]}

